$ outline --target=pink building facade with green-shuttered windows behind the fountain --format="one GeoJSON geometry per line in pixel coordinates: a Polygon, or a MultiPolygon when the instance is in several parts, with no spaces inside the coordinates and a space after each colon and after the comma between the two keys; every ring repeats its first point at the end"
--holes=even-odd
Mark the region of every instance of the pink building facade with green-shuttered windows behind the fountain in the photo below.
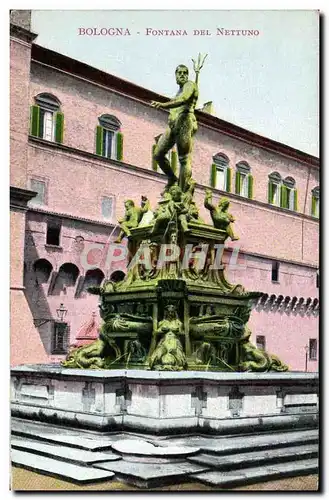
{"type": "MultiPolygon", "coordinates": [[[[83,325],[100,323],[87,287],[126,271],[119,250],[106,262],[124,200],[147,195],[155,207],[160,197],[165,177],[154,170],[152,147],[168,116],[150,106],[164,98],[147,89],[33,43],[12,44],[11,185],[36,193],[12,232],[22,247],[17,265],[12,250],[12,282],[24,275],[26,309],[13,310],[20,321],[12,319],[12,362],[56,362],[83,325]],[[30,330],[38,359],[20,347],[30,330]]],[[[317,371],[319,161],[205,112],[197,118],[200,215],[210,223],[207,188],[215,201],[229,198],[240,237],[227,245],[227,259],[235,248],[240,264],[228,267],[229,280],[263,292],[250,319],[253,340],[292,370],[317,371]]]]}

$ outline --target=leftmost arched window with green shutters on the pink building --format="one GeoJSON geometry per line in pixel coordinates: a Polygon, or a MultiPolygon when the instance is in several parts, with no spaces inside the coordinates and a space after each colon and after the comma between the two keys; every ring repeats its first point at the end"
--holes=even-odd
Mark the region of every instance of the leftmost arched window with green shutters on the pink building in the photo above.
{"type": "Polygon", "coordinates": [[[31,106],[31,135],[47,141],[63,142],[64,115],[56,96],[46,92],[34,98],[31,106]]]}

